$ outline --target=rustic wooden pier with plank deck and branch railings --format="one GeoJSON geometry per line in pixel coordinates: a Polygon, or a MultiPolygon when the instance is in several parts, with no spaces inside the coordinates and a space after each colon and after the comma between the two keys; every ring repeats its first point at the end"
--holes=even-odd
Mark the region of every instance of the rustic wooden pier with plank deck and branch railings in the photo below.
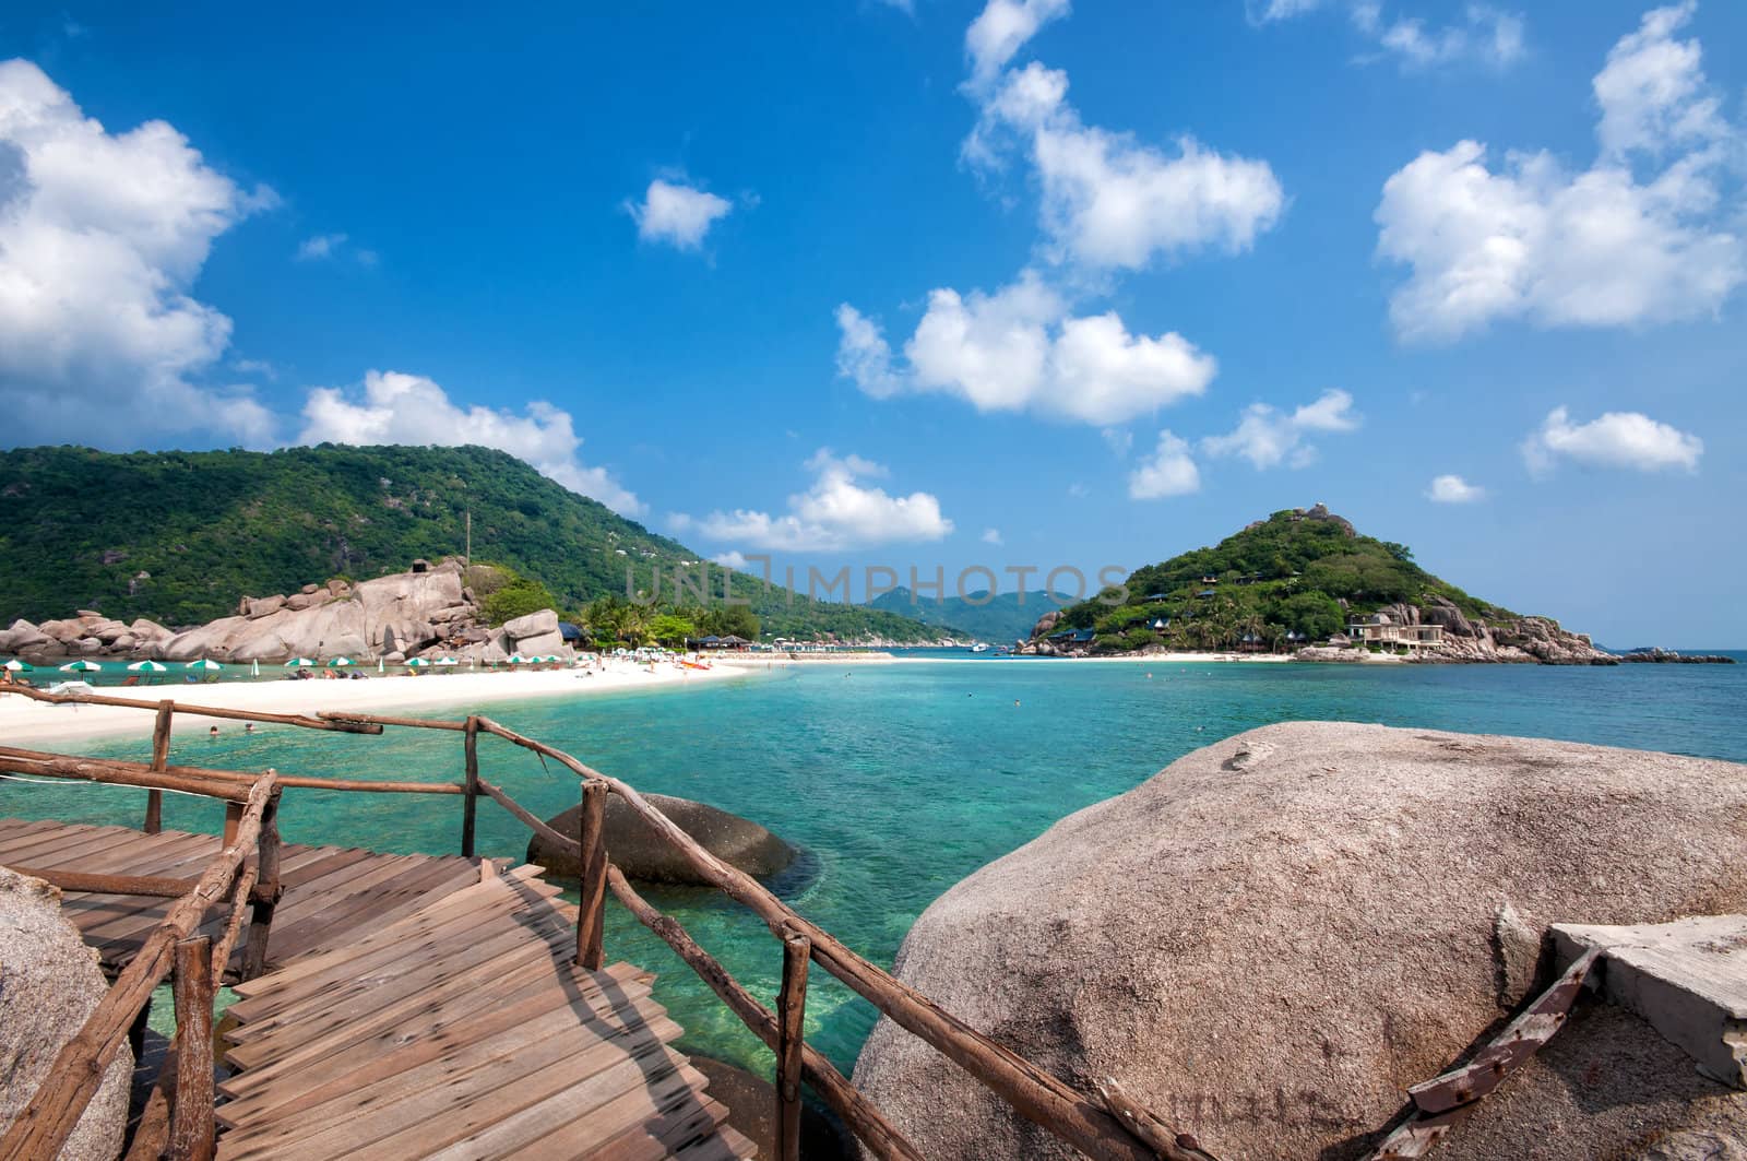
{"type": "Polygon", "coordinates": [[[176,1032],[131,1126],[126,1161],[367,1156],[798,1161],[802,1086],[870,1158],[921,1161],[915,1147],[805,1042],[809,965],[847,984],[1012,1109],[1095,1161],[1209,1161],[1115,1086],[1088,1093],[996,1044],[868,963],[762,883],[704,850],[631,785],[486,717],[253,713],[107,694],[42,694],[152,710],[152,761],[124,762],[0,747],[0,776],[101,782],[147,792],[140,831],[0,818],[0,864],[58,885],[65,909],[114,984],[0,1135],[0,1161],[49,1161],[150,1004],[175,988],[176,1032]],[[171,766],[176,713],[351,734],[461,734],[458,782],[281,776],[171,766]],[[580,839],[563,836],[482,776],[479,743],[538,754],[580,782],[580,839]],[[384,855],[280,841],[285,792],[461,797],[459,857],[384,855]],[[222,803],[224,838],[161,825],[164,792],[222,803]],[[734,979],[673,918],[652,907],[606,850],[603,813],[618,796],[697,872],[776,937],[774,1009],[734,979]],[[489,799],[582,867],[580,907],[538,867],[475,859],[489,799]],[[681,1035],[650,997],[650,976],[608,963],[611,893],[660,935],[776,1053],[774,1142],[760,1152],[727,1126],[704,1077],[673,1049],[681,1035]],[[215,1088],[213,991],[234,983],[215,1088]]]}

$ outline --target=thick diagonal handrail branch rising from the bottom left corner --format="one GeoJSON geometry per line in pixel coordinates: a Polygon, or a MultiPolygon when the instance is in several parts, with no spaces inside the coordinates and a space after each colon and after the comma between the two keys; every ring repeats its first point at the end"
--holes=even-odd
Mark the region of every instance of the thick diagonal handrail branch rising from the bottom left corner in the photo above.
{"type": "MultiPolygon", "coordinates": [[[[0,1161],[45,1161],[59,1154],[101,1086],[103,1074],[115,1060],[133,1021],[152,998],[152,990],[169,972],[176,944],[189,939],[206,918],[206,911],[236,885],[245,855],[260,841],[262,817],[276,801],[278,778],[269,771],[248,792],[236,839],[206,866],[194,890],[171,904],[133,962],[98,1000],[79,1033],[61,1046],[44,1082],[19,1110],[5,1137],[0,1137],[0,1161]]],[[[206,1103],[210,1114],[211,1102],[206,1103]]]]}

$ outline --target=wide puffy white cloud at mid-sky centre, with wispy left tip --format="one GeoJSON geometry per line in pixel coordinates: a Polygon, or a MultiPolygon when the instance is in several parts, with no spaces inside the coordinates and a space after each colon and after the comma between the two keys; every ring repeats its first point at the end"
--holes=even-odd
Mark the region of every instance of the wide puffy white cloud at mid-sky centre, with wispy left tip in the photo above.
{"type": "Polygon", "coordinates": [[[837,369],[874,395],[957,395],[978,411],[1031,411],[1080,423],[1123,423],[1212,381],[1218,362],[1176,332],[1130,334],[1115,313],[1073,316],[1034,273],[994,294],[940,289],[893,365],[879,327],[837,309],[837,369]]]}

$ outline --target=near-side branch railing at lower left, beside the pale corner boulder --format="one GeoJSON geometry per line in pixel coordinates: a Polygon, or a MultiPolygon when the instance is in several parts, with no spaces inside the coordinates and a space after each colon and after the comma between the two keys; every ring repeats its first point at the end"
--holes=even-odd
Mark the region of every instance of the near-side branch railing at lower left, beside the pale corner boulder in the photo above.
{"type": "MultiPolygon", "coordinates": [[[[61,762],[31,762],[5,752],[3,769],[35,769],[58,776],[84,776],[107,782],[93,762],[82,773],[63,773],[61,762]]],[[[273,904],[280,895],[278,808],[281,785],[273,771],[259,778],[236,775],[210,776],[218,771],[159,769],[122,785],[145,785],[154,792],[180,790],[225,801],[225,839],[218,855],[192,883],[185,879],[84,874],[40,867],[14,867],[19,874],[45,879],[63,890],[101,892],[107,895],[155,895],[175,899],[162,921],[147,935],[133,960],[98,1000],[84,1026],[56,1054],[42,1084],[0,1137],[0,1161],[37,1161],[61,1152],[86,1107],[103,1084],[103,1075],[121,1051],[122,1040],[145,1011],[154,988],[166,976],[173,981],[176,1032],[147,1102],[129,1158],[169,1156],[175,1161],[204,1161],[213,1156],[213,993],[243,930],[245,911],[253,920],[243,949],[243,976],[257,974],[266,963],[273,904]],[[248,853],[253,864],[245,864],[248,853]],[[197,935],[213,904],[231,897],[231,914],[217,946],[197,935]]]]}

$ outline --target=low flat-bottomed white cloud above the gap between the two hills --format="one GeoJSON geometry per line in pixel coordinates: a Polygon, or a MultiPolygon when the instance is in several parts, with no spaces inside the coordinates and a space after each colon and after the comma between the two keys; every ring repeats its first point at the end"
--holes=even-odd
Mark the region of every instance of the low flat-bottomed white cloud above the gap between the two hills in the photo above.
{"type": "Polygon", "coordinates": [[[814,472],[812,486],[788,498],[786,514],[751,509],[711,512],[695,521],[697,530],[711,540],[737,540],[779,553],[840,553],[942,540],[952,533],[952,521],[940,514],[940,502],[929,493],[893,497],[863,484],[863,477],[887,476],[879,463],[853,455],[835,456],[821,448],[805,467],[814,472]]]}

